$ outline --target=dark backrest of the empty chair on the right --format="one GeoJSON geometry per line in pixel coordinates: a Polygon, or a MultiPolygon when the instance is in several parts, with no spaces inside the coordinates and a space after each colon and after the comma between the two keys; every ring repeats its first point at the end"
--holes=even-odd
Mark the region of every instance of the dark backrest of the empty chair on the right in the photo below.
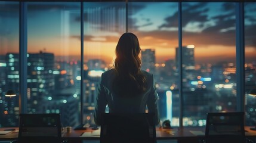
{"type": "Polygon", "coordinates": [[[207,113],[206,143],[244,143],[246,139],[243,116],[243,112],[207,113]]]}

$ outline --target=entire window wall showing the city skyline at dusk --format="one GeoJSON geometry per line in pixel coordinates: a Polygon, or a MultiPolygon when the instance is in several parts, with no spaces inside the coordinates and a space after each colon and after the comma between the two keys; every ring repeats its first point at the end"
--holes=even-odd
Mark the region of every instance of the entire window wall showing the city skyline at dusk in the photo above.
{"type": "MultiPolygon", "coordinates": [[[[100,76],[122,33],[138,36],[162,121],[205,126],[208,112],[256,125],[256,2],[0,1],[0,128],[20,113],[94,125],[100,76]],[[5,96],[8,90],[17,96],[5,96]]],[[[108,112],[106,107],[106,112],[108,112]]]]}

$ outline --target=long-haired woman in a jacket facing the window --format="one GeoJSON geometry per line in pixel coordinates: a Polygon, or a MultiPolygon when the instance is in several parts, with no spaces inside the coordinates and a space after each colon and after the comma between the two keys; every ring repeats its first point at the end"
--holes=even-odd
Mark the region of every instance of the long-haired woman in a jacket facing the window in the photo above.
{"type": "Polygon", "coordinates": [[[124,33],[116,46],[114,68],[101,75],[94,121],[101,125],[106,105],[109,113],[155,113],[159,123],[158,95],[153,75],[141,70],[140,44],[133,33],[124,33]]]}

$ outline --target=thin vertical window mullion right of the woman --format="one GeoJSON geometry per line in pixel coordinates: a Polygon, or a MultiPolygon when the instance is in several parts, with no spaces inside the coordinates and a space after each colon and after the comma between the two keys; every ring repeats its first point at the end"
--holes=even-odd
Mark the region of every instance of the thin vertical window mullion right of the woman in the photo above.
{"type": "Polygon", "coordinates": [[[183,79],[183,72],[182,72],[182,7],[181,7],[182,2],[178,2],[178,72],[179,72],[179,106],[180,106],[180,128],[183,127],[183,93],[182,93],[182,79],[183,79]]]}

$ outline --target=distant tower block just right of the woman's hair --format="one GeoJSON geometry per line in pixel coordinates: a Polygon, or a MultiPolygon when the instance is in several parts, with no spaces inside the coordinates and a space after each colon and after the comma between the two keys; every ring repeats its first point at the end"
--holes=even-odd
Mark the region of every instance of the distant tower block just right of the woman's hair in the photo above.
{"type": "Polygon", "coordinates": [[[141,51],[141,69],[155,73],[156,56],[155,49],[143,49],[141,51]]]}

